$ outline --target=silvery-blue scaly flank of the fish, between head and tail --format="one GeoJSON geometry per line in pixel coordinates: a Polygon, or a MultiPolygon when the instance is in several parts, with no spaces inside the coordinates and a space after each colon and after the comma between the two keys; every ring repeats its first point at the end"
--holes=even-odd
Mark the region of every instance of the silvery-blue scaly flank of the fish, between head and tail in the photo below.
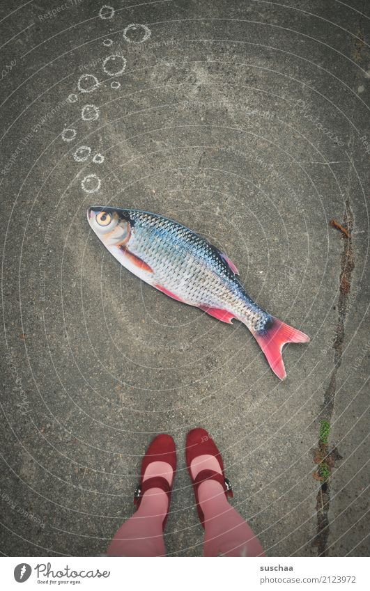
{"type": "Polygon", "coordinates": [[[152,267],[151,283],[176,290],[190,306],[226,306],[250,329],[263,329],[270,315],[249,298],[215,246],[175,221],[137,210],[126,214],[133,222],[130,251],[152,267]]]}

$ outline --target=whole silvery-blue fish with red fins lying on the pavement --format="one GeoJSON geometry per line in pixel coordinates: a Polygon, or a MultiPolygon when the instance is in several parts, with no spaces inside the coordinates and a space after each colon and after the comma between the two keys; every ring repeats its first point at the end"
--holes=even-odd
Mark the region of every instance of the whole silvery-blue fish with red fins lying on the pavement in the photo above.
{"type": "Polygon", "coordinates": [[[245,291],[233,262],[180,223],[140,210],[93,206],[88,223],[121,265],[167,296],[252,332],[270,367],[286,377],[282,347],[309,337],[270,315],[245,291]]]}

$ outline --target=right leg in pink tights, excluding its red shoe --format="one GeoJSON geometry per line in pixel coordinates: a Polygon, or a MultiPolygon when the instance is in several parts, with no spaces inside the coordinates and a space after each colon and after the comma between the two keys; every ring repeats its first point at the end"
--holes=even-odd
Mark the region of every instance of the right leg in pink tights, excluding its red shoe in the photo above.
{"type": "MultiPolygon", "coordinates": [[[[212,455],[194,458],[192,477],[205,469],[221,473],[217,459],[212,455]]],[[[215,480],[206,480],[199,486],[199,503],[204,513],[205,556],[264,556],[259,539],[247,522],[231,505],[224,489],[215,480]]]]}

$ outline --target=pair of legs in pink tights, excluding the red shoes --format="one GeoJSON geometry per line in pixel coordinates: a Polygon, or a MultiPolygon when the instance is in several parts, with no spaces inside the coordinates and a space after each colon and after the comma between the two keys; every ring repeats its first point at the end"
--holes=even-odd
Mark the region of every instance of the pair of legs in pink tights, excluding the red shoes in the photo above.
{"type": "MultiPolygon", "coordinates": [[[[193,482],[204,470],[223,474],[219,460],[209,453],[201,453],[194,457],[188,464],[188,469],[193,482]]],[[[171,488],[174,473],[174,469],[167,462],[151,462],[146,466],[141,482],[159,476],[164,478],[171,488]]],[[[204,556],[264,555],[263,548],[252,529],[229,505],[225,489],[220,482],[213,479],[201,482],[197,488],[196,501],[204,516],[204,556]]],[[[112,539],[108,555],[164,556],[166,551],[163,524],[168,511],[169,496],[162,488],[153,487],[146,490],[137,512],[123,523],[112,539]]]]}

